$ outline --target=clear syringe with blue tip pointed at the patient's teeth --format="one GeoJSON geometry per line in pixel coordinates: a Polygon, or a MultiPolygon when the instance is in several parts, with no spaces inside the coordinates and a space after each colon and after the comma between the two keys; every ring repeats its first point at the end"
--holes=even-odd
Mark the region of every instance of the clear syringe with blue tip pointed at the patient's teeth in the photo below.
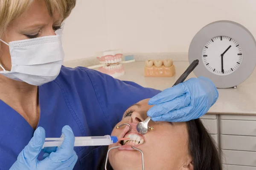
{"type": "MultiPolygon", "coordinates": [[[[117,141],[129,140],[130,138],[117,138],[116,136],[81,136],[75,137],[75,147],[81,146],[102,146],[116,143],[117,141]]],[[[60,147],[64,136],[60,138],[45,138],[44,147],[60,147]]]]}

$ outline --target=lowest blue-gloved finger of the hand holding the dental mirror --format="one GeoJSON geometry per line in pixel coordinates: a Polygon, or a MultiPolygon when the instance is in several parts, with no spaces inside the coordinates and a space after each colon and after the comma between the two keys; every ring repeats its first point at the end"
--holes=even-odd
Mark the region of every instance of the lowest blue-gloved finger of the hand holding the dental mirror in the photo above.
{"type": "Polygon", "coordinates": [[[182,121],[186,121],[186,117],[189,117],[189,112],[191,111],[192,106],[186,106],[181,109],[173,110],[171,112],[167,112],[164,115],[159,115],[156,117],[151,118],[152,121],[169,121],[169,122],[175,122],[175,120],[178,120],[179,118],[182,118],[182,121]]]}

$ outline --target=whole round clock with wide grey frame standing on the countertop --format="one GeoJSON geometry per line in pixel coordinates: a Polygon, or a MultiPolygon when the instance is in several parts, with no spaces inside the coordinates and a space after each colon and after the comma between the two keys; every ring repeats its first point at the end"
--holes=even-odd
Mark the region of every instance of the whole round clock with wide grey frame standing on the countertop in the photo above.
{"type": "Polygon", "coordinates": [[[239,23],[221,20],[204,26],[189,46],[189,63],[198,59],[194,73],[212,80],[217,88],[244,82],[256,66],[256,41],[239,23]]]}

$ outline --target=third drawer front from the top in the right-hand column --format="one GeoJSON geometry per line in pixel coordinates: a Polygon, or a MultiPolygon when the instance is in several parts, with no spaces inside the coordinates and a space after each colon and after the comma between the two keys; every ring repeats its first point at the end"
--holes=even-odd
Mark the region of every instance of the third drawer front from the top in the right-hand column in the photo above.
{"type": "Polygon", "coordinates": [[[256,152],[222,150],[223,163],[256,167],[256,152]]]}

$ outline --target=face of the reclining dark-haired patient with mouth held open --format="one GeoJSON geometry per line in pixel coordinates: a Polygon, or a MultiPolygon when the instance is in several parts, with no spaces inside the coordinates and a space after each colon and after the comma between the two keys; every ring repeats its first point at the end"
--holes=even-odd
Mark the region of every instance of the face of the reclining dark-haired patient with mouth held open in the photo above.
{"type": "MultiPolygon", "coordinates": [[[[111,135],[118,138],[129,136],[132,141],[124,141],[125,144],[121,142],[122,147],[110,151],[111,166],[114,170],[141,170],[141,154],[132,149],[131,146],[134,146],[144,153],[145,170],[193,170],[186,123],[150,121],[148,126],[153,126],[154,130],[148,129],[145,135],[137,132],[137,124],[147,118],[147,111],[152,107],[148,105],[148,100],[140,101],[127,109],[126,115],[117,124],[131,124],[131,132],[127,133],[129,128],[126,125],[113,130],[111,135]]],[[[121,144],[112,144],[109,148],[121,144]]]]}

